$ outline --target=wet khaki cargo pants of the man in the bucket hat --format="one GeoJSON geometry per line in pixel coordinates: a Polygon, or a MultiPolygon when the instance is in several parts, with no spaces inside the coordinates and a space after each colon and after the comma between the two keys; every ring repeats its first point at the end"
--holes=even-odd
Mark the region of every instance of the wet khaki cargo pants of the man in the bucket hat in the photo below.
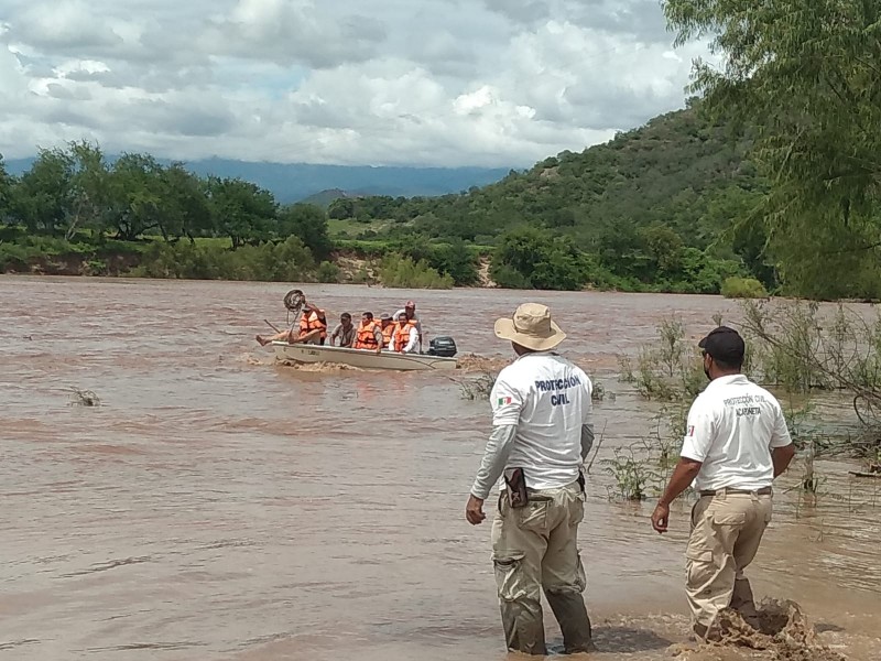
{"type": "Polygon", "coordinates": [[[526,507],[513,509],[502,491],[492,522],[492,561],[508,649],[545,654],[542,589],[563,632],[566,652],[592,649],[581,593],[585,571],[578,523],[585,496],[578,483],[530,489],[526,507]]]}

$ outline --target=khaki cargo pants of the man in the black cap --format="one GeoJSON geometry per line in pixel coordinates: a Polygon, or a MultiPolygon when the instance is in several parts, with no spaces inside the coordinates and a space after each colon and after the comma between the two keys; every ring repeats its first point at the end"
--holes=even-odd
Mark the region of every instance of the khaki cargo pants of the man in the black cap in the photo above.
{"type": "Polygon", "coordinates": [[[743,570],[755,557],[771,521],[771,495],[720,489],[703,496],[692,509],[692,535],[685,551],[686,594],[695,633],[707,636],[724,608],[749,622],[755,604],[743,570]]]}

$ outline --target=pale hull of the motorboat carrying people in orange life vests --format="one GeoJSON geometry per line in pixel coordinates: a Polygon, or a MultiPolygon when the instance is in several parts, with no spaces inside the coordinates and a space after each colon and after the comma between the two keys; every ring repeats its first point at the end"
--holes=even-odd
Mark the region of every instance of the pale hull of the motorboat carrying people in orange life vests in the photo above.
{"type": "Polygon", "coordinates": [[[287,344],[273,342],[275,358],[290,362],[334,362],[361,369],[427,370],[456,369],[455,357],[432,354],[377,354],[368,349],[349,349],[326,345],[287,344]]]}

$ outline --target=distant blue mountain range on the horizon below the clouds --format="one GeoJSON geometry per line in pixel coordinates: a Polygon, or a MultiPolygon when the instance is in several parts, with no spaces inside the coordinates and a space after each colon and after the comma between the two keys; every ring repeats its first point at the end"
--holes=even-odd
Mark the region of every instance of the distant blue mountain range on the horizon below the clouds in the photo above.
{"type": "MultiPolygon", "coordinates": [[[[113,156],[108,156],[112,162],[113,156]]],[[[157,159],[168,164],[168,159],[157,159]]],[[[26,172],[34,159],[6,162],[7,172],[26,172]]],[[[322,194],[315,202],[329,204],[344,195],[445,195],[501,180],[508,169],[490,167],[373,167],[370,165],[311,165],[307,163],[252,163],[227,159],[189,161],[186,166],[199,175],[240,177],[267,188],[281,203],[300,202],[322,194]],[[336,189],[336,191],[333,191],[336,189]]]]}

